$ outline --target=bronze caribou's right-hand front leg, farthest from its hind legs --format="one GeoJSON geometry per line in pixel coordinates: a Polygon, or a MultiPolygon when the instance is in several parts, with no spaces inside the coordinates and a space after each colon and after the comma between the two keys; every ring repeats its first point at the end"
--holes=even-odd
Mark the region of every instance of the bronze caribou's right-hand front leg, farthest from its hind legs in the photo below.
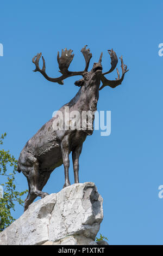
{"type": "Polygon", "coordinates": [[[82,152],[82,147],[83,145],[80,145],[72,151],[74,183],[79,183],[79,156],[82,152]]]}

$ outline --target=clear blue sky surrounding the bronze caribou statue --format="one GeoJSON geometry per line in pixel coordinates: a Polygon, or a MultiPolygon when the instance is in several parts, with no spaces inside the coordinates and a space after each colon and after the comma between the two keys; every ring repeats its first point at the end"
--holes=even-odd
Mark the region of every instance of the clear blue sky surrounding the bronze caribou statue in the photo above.
{"type": "MultiPolygon", "coordinates": [[[[77,93],[76,78],[65,85],[34,73],[32,57],[42,52],[49,76],[58,76],[57,51],[73,49],[71,70],[84,67],[80,50],[92,52],[90,67],[101,51],[123,55],[129,72],[121,86],[100,91],[98,110],[111,110],[111,135],[95,131],[80,157],[80,182],[95,182],[104,199],[100,233],[110,245],[162,245],[162,75],[158,55],[162,37],[162,1],[3,1],[0,57],[1,129],[4,148],[18,158],[24,144],[77,93]]],[[[120,67],[120,64],[119,64],[120,67]]],[[[108,78],[116,77],[116,72],[108,78]]],[[[73,183],[72,162],[70,177],[73,183]]],[[[3,181],[1,182],[3,183],[3,181]]],[[[17,189],[27,189],[23,174],[17,189]]],[[[52,173],[43,191],[56,193],[64,184],[64,168],[52,173]]],[[[39,198],[38,198],[39,199],[39,198]]],[[[14,217],[22,215],[16,205],[14,217]]]]}

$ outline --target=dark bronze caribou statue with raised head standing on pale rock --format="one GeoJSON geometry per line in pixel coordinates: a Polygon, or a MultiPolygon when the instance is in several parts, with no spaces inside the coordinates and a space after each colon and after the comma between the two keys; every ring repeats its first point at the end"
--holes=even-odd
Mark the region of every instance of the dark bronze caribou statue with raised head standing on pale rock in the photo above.
{"type": "MultiPolygon", "coordinates": [[[[87,46],[87,45],[86,45],[87,46]]],[[[42,56],[43,66],[39,67],[39,60],[41,53],[38,53],[33,58],[33,63],[36,68],[34,72],[40,72],[48,81],[58,82],[63,85],[63,80],[70,76],[81,75],[83,78],[76,81],[74,84],[79,86],[80,89],[76,96],[67,104],[61,107],[60,111],[64,114],[65,107],[69,107],[69,111],[77,110],[81,115],[82,111],[97,110],[97,102],[99,98],[99,90],[102,90],[105,86],[115,88],[121,85],[124,74],[128,71],[127,66],[123,64],[121,56],[121,68],[122,76],[117,69],[118,78],[116,80],[108,80],[104,75],[111,73],[117,65],[118,59],[116,53],[111,49],[108,50],[111,58],[111,68],[108,72],[102,73],[102,53],[97,63],[93,64],[90,72],[88,72],[90,59],[92,53],[89,49],[83,47],[81,52],[85,58],[85,69],[82,72],[71,72],[68,70],[73,56],[72,50],[62,50],[61,57],[58,52],[58,64],[60,73],[59,78],[50,78],[45,72],[45,59],[42,56]],[[99,88],[102,81],[102,86],[99,88]]],[[[53,122],[57,118],[54,116],[42,128],[27,142],[23,150],[20,153],[18,159],[17,170],[23,172],[27,177],[29,193],[25,201],[24,211],[28,209],[28,206],[32,204],[36,197],[44,198],[48,195],[42,192],[43,187],[48,181],[51,172],[58,166],[64,164],[65,169],[65,184],[64,187],[70,186],[70,180],[68,175],[68,169],[70,166],[69,154],[72,152],[73,170],[74,170],[74,182],[79,183],[79,156],[82,152],[83,142],[87,135],[91,135],[93,132],[89,129],[57,129],[54,130],[53,122]]],[[[93,117],[94,120],[94,117],[93,117]]],[[[93,121],[92,121],[93,122],[93,121]]]]}

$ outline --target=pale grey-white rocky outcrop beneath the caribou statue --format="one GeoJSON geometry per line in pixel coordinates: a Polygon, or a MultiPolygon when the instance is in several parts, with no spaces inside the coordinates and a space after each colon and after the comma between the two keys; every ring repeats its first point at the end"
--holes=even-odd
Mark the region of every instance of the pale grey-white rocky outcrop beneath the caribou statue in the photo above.
{"type": "Polygon", "coordinates": [[[96,245],[102,201],[92,182],[47,195],[0,233],[0,245],[96,245]]]}

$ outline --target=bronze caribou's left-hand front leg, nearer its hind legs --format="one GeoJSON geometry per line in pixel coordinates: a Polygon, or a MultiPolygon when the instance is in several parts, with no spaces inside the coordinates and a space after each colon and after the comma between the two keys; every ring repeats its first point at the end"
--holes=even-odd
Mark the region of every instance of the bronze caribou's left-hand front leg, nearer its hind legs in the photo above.
{"type": "Polygon", "coordinates": [[[70,167],[70,160],[69,160],[70,147],[69,147],[68,135],[65,136],[65,138],[61,142],[61,152],[62,152],[62,159],[63,159],[64,169],[65,169],[65,184],[64,184],[64,188],[65,188],[70,186],[69,172],[68,172],[70,167]]]}

